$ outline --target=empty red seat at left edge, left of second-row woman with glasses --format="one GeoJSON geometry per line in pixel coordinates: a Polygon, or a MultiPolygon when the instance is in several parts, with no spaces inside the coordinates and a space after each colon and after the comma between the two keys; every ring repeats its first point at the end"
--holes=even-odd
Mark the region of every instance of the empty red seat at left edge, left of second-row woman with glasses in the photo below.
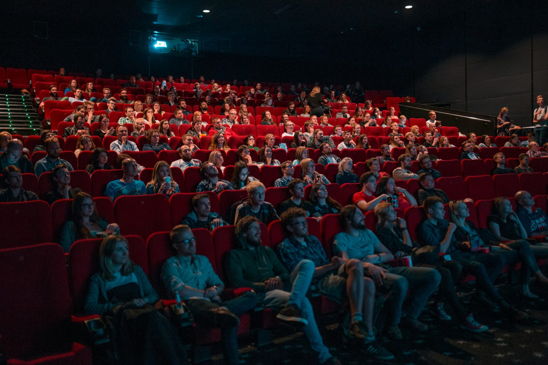
{"type": "Polygon", "coordinates": [[[52,212],[45,201],[0,203],[0,216],[2,232],[11,232],[16,227],[21,233],[5,234],[0,240],[0,250],[53,242],[52,212]]]}

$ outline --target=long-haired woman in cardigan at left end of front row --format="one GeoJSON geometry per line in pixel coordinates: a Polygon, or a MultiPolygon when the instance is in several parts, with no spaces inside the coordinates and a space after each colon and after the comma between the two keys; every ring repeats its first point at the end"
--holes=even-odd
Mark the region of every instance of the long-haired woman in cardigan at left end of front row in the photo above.
{"type": "Polygon", "coordinates": [[[188,364],[188,355],[162,313],[158,294],[139,265],[129,259],[128,241],[107,236],[99,248],[99,272],[89,280],[85,314],[109,315],[118,336],[121,363],[188,364]]]}

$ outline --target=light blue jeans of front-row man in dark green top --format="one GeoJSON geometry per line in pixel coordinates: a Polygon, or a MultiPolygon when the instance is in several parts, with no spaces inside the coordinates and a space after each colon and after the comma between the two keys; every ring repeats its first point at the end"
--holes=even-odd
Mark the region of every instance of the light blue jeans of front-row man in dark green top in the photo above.
{"type": "Polygon", "coordinates": [[[286,283],[286,290],[275,289],[266,292],[263,303],[265,306],[275,310],[286,304],[295,304],[298,306],[302,317],[308,322],[308,325],[304,328],[304,333],[309,339],[310,347],[318,353],[319,362],[323,363],[331,357],[331,354],[329,354],[327,346],[323,344],[322,336],[319,334],[316,319],[314,318],[312,305],[308,298],[306,298],[306,292],[310,287],[315,270],[316,266],[311,260],[302,260],[293,269],[289,282],[286,283]]]}

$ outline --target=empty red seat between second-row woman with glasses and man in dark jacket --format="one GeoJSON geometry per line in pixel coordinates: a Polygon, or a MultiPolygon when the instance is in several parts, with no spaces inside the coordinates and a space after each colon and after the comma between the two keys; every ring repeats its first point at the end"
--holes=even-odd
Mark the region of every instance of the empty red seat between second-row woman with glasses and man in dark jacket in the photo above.
{"type": "Polygon", "coordinates": [[[121,234],[136,234],[143,239],[158,230],[170,230],[171,209],[163,194],[119,196],[114,202],[116,223],[121,234]],[[150,213],[153,207],[154,213],[150,213]]]}

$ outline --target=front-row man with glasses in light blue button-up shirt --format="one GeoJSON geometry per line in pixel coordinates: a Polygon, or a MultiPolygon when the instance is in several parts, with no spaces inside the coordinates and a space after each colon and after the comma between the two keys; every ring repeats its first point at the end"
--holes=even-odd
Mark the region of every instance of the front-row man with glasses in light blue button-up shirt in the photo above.
{"type": "Polygon", "coordinates": [[[162,267],[162,280],[172,298],[185,300],[197,324],[221,329],[225,364],[239,363],[236,331],[239,316],[252,310],[259,297],[252,291],[237,298],[222,301],[223,289],[219,276],[206,256],[196,254],[194,234],[188,225],[176,225],[169,241],[177,254],[162,267]]]}

